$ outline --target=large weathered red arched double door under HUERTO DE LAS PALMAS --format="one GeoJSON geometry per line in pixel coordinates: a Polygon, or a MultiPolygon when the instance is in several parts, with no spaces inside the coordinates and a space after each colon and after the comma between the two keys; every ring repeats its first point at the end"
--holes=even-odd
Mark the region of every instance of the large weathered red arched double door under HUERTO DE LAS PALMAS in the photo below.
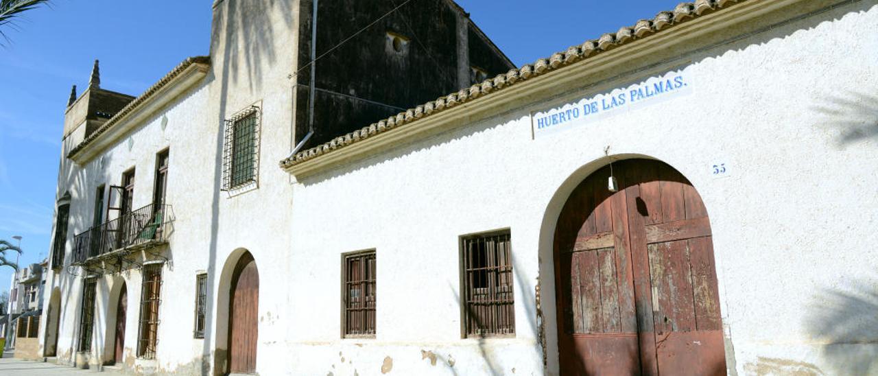
{"type": "Polygon", "coordinates": [[[555,233],[563,375],[725,374],[707,210],[672,167],[613,163],[572,192],[555,233]]]}

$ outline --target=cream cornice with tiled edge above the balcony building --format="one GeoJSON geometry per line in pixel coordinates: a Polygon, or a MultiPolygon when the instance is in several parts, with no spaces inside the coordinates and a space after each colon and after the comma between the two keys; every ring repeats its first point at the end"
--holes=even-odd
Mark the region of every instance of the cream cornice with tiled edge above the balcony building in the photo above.
{"type": "Polygon", "coordinates": [[[67,157],[77,164],[88,163],[140,122],[198,83],[207,75],[209,68],[210,58],[207,56],[187,58],[71,149],[67,157]]]}

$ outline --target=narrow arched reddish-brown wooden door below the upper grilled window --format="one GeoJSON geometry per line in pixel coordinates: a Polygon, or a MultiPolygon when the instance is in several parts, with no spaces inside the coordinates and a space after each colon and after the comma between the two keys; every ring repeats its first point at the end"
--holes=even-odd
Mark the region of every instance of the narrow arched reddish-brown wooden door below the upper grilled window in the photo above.
{"type": "Polygon", "coordinates": [[[229,372],[256,371],[256,340],[259,335],[259,271],[249,252],[244,253],[232,274],[229,298],[229,372]]]}

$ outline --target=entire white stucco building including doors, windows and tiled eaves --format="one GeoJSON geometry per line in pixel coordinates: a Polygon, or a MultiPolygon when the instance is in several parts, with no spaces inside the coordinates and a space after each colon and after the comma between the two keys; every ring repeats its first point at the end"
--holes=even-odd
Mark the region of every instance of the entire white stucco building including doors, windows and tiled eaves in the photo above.
{"type": "Polygon", "coordinates": [[[248,58],[234,4],[211,56],[111,117],[99,79],[71,101],[44,356],[878,372],[878,2],[680,4],[297,150],[298,34],[248,58]]]}

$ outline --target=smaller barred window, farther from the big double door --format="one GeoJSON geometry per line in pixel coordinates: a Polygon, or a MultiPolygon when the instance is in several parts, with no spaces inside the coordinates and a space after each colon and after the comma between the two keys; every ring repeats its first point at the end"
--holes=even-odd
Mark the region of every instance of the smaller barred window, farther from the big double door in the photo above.
{"type": "Polygon", "coordinates": [[[375,251],[344,257],[344,336],[375,336],[375,251]]]}

